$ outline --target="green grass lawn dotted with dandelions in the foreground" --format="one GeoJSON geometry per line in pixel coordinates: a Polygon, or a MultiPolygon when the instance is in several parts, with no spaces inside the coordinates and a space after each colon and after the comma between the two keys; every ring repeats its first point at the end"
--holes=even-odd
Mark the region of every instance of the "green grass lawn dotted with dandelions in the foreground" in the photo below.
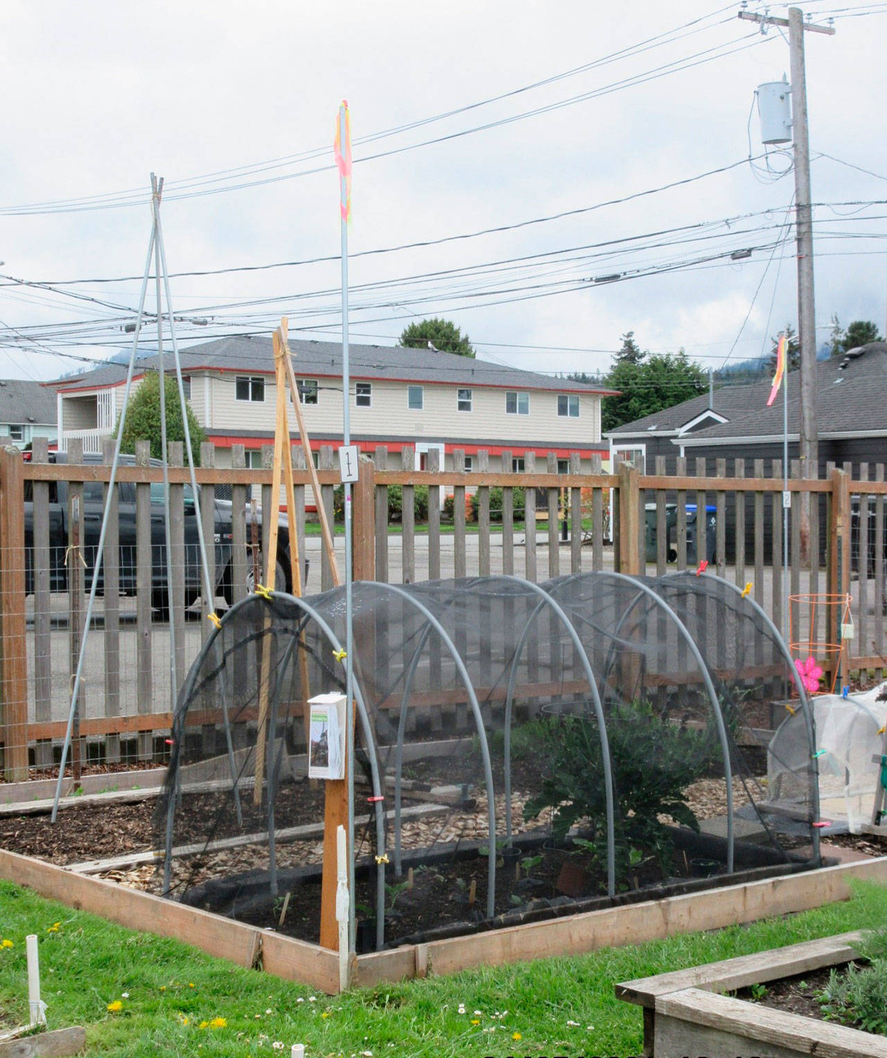
{"type": "Polygon", "coordinates": [[[50,1028],[87,1028],[89,1055],[639,1055],[640,1007],[613,983],[887,920],[887,889],[816,911],[330,998],[135,933],[0,881],[0,1026],[27,1018],[24,938],[40,938],[50,1028]],[[12,946],[2,947],[3,941],[12,946]]]}

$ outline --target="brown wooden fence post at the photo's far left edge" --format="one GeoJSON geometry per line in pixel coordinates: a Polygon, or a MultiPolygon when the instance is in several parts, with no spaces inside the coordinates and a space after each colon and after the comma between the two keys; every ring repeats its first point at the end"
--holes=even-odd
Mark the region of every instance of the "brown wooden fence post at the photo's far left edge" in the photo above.
{"type": "Polygon", "coordinates": [[[21,453],[0,453],[0,592],[4,770],[27,779],[27,654],[24,624],[24,488],[21,453]]]}

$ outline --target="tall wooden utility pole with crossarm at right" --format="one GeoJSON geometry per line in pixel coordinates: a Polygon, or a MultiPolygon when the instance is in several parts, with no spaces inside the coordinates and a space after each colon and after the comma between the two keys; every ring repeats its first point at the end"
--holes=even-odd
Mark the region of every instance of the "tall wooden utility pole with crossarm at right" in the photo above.
{"type": "MultiPolygon", "coordinates": [[[[790,7],[788,18],[753,15],[740,11],[739,17],[766,25],[789,29],[789,51],[792,74],[792,141],[795,163],[795,235],[798,262],[798,340],[800,342],[800,431],[798,456],[801,477],[819,474],[819,445],[816,427],[816,321],[813,303],[813,226],[810,206],[810,141],[807,127],[807,77],[803,61],[803,34],[834,35],[831,25],[814,25],[803,21],[799,7],[790,7]]],[[[809,533],[801,533],[806,542],[809,533]]],[[[806,543],[802,543],[806,553],[806,543]]]]}

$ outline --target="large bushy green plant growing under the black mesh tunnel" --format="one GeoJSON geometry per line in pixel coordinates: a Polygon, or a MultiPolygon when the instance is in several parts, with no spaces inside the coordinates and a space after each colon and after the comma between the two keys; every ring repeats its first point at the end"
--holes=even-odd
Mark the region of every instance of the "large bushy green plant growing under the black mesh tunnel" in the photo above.
{"type": "MultiPolygon", "coordinates": [[[[615,798],[617,872],[625,875],[632,865],[632,849],[640,850],[642,858],[654,855],[667,870],[672,843],[659,817],[670,816],[699,831],[684,789],[704,773],[717,753],[716,732],[713,727],[695,730],[671,724],[645,701],[612,707],[606,723],[615,798]]],[[[566,837],[573,824],[586,820],[590,832],[586,840],[599,858],[606,856],[607,802],[595,718],[550,717],[543,722],[541,738],[550,770],[540,792],[526,802],[524,818],[533,819],[543,808],[551,808],[552,826],[559,838],[566,837]]]]}

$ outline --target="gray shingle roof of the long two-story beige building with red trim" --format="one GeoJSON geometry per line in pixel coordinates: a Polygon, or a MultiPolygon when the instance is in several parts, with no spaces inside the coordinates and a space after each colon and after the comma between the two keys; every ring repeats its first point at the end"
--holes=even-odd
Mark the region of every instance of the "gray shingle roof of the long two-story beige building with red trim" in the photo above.
{"type": "MultiPolygon", "coordinates": [[[[337,342],[290,341],[293,366],[299,378],[341,377],[341,345],[337,342]]],[[[274,373],[271,339],[224,338],[181,349],[182,370],[187,375],[201,368],[223,371],[274,373]]],[[[138,368],[155,368],[156,357],[138,360],[138,368]]],[[[171,354],[166,363],[171,366],[171,354]]],[[[402,346],[351,345],[349,366],[352,378],[391,379],[402,382],[439,382],[464,386],[515,386],[522,389],[549,389],[559,393],[608,393],[599,386],[567,379],[523,371],[517,367],[470,360],[432,349],[407,349],[402,346]]],[[[64,389],[93,389],[114,385],[126,379],[126,366],[108,364],[54,385],[64,389]]]]}

